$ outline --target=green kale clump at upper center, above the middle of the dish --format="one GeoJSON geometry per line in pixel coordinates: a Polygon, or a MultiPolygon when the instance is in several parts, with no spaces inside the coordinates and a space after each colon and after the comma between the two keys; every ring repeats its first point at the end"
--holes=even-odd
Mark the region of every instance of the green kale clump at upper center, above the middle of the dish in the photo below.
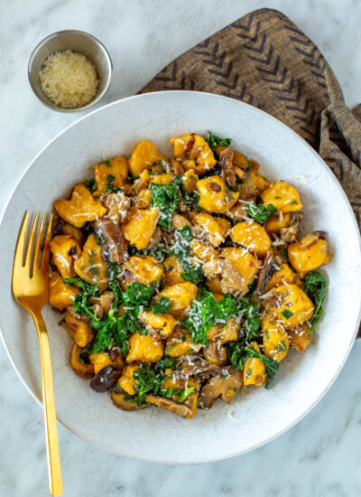
{"type": "Polygon", "coordinates": [[[180,192],[176,183],[151,183],[151,205],[157,207],[161,217],[158,224],[166,230],[171,227],[171,217],[177,209],[180,200],[180,192]]]}

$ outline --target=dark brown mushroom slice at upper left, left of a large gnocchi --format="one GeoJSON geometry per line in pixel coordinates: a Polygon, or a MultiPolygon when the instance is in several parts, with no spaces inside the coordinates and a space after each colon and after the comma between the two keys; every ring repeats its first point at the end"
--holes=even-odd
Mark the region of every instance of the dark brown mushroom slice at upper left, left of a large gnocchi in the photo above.
{"type": "Polygon", "coordinates": [[[94,230],[101,239],[103,258],[106,262],[121,264],[125,260],[125,238],[119,225],[103,217],[94,222],[94,230]]]}

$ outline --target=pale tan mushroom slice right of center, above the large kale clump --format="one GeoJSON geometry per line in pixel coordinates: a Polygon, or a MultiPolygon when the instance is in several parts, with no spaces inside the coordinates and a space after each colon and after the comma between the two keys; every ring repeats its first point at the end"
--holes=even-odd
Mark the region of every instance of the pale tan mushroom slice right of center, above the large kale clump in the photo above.
{"type": "Polygon", "coordinates": [[[206,277],[218,277],[224,294],[240,294],[248,290],[245,278],[226,259],[216,258],[209,260],[203,264],[202,269],[206,277]]]}

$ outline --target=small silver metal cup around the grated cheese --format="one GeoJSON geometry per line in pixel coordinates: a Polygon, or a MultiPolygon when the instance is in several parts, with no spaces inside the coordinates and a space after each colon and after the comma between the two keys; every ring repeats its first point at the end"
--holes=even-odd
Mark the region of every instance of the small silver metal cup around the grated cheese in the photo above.
{"type": "Polygon", "coordinates": [[[113,79],[113,64],[106,47],[91,34],[76,30],[59,31],[44,38],[33,50],[28,65],[28,78],[32,91],[46,107],[59,112],[79,112],[79,110],[94,106],[100,98],[104,97],[113,79]],[[79,108],[61,108],[52,103],[42,91],[40,71],[44,61],[51,53],[67,50],[82,53],[89,61],[92,61],[99,79],[95,98],[79,108]]]}

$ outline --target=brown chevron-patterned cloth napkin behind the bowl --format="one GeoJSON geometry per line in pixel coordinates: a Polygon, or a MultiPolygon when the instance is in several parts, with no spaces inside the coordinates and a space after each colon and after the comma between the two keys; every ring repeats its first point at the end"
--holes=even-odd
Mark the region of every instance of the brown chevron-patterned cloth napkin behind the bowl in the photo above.
{"type": "Polygon", "coordinates": [[[345,106],[317,46],[271,9],[245,15],[168,64],[141,93],[188,89],[237,98],[304,138],[337,176],[361,226],[361,106],[345,106]]]}

